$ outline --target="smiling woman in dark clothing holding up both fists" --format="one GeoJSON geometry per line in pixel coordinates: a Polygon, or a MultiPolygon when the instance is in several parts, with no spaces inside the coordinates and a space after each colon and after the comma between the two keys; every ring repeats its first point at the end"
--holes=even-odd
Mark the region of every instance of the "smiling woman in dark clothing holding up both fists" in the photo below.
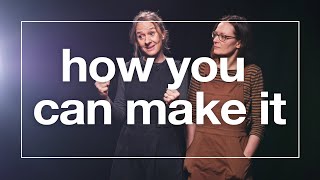
{"type": "MultiPolygon", "coordinates": [[[[148,58],[154,63],[147,82],[140,82],[135,72],[131,82],[118,80],[114,101],[108,96],[109,82],[96,82],[96,87],[111,104],[112,116],[126,118],[126,102],[163,100],[170,104],[176,99],[187,99],[187,81],[184,79],[178,90],[167,89],[173,83],[164,50],[168,49],[168,31],[162,19],[154,12],[142,11],[135,18],[130,31],[130,40],[134,46],[134,56],[140,57],[142,67],[148,58]]],[[[130,62],[127,63],[127,66],[130,62]]],[[[180,66],[179,62],[176,62],[180,66]]],[[[166,106],[166,118],[172,111],[166,106]]],[[[158,110],[150,108],[150,125],[143,124],[143,108],[135,108],[135,124],[124,123],[117,147],[116,157],[183,157],[181,139],[174,125],[158,124],[158,110]]],[[[111,180],[177,180],[182,179],[183,159],[174,158],[121,158],[114,159],[111,180]]]]}

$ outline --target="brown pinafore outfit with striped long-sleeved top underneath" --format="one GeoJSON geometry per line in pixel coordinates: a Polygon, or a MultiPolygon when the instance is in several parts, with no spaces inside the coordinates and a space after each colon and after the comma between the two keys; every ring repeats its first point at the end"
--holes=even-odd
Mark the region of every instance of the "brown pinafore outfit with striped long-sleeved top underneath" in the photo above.
{"type": "MultiPolygon", "coordinates": [[[[200,65],[199,72],[207,76],[210,68],[200,65]]],[[[187,150],[187,157],[244,157],[243,151],[250,135],[263,137],[261,124],[261,92],[263,77],[257,65],[248,65],[244,70],[243,82],[224,82],[220,70],[214,80],[199,82],[191,79],[188,99],[192,104],[192,120],[196,122],[196,92],[204,93],[204,107],[212,100],[219,100],[212,111],[221,124],[212,124],[204,116],[204,124],[197,124],[194,140],[187,150]],[[222,119],[221,108],[229,100],[238,100],[246,107],[245,115],[229,115],[230,119],[245,117],[239,125],[229,125],[222,119]]],[[[234,76],[236,70],[228,70],[234,76]]],[[[231,106],[229,109],[233,109],[231,106]]],[[[236,108],[237,109],[237,108],[236,108]]],[[[186,158],[185,167],[190,173],[189,180],[207,179],[250,179],[251,160],[248,158],[186,158]]]]}

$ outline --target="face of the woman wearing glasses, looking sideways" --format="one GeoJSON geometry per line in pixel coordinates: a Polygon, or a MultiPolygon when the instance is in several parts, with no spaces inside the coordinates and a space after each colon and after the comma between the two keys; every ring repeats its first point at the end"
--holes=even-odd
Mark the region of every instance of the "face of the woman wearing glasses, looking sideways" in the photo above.
{"type": "Polygon", "coordinates": [[[213,38],[214,55],[219,57],[230,57],[235,53],[238,53],[241,43],[235,38],[235,29],[232,24],[228,22],[221,22],[218,24],[214,33],[216,34],[213,38]],[[221,41],[220,39],[225,40],[221,41]]]}

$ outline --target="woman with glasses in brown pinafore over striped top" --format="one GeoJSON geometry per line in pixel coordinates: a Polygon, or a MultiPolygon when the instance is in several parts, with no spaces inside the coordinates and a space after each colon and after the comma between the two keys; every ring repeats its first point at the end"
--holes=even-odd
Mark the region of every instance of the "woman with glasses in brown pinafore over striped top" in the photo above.
{"type": "MultiPolygon", "coordinates": [[[[218,66],[217,76],[210,82],[198,82],[192,78],[188,93],[193,108],[196,108],[197,91],[204,93],[204,106],[212,100],[220,100],[212,111],[221,124],[213,125],[205,116],[204,124],[187,127],[187,157],[218,158],[187,158],[185,167],[189,172],[189,180],[251,179],[250,157],[254,155],[264,132],[260,117],[263,78],[261,69],[248,62],[249,25],[243,22],[245,18],[236,15],[226,16],[221,20],[212,32],[211,57],[218,66]],[[237,72],[237,57],[244,58],[243,82],[222,81],[219,62],[223,57],[228,58],[230,76],[237,72]],[[222,105],[229,100],[238,100],[246,107],[245,120],[239,125],[229,125],[222,119],[222,105]]],[[[209,65],[201,64],[199,72],[202,76],[208,75],[209,65]]],[[[230,109],[233,109],[233,106],[230,109]]],[[[195,121],[196,115],[193,114],[195,121]]],[[[239,117],[243,116],[230,115],[230,119],[239,117]]]]}

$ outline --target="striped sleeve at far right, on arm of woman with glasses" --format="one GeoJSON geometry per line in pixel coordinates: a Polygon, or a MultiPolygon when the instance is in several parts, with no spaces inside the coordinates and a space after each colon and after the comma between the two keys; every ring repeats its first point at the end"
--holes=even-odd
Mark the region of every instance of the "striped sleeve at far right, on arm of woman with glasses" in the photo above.
{"type": "Polygon", "coordinates": [[[251,131],[249,135],[263,138],[265,127],[261,124],[261,92],[263,91],[263,77],[259,67],[251,78],[251,131]]]}

